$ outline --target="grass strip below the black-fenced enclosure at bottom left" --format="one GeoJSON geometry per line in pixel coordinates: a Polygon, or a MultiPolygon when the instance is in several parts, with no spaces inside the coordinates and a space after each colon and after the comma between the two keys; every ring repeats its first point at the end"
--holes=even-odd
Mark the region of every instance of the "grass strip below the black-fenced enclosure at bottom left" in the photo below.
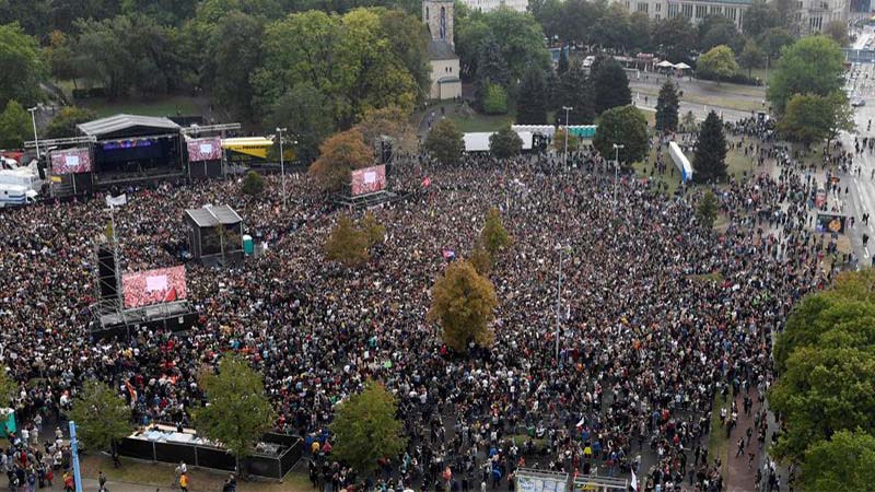
{"type": "MultiPolygon", "coordinates": [[[[174,479],[174,465],[150,464],[129,458],[121,458],[121,468],[113,468],[113,461],[104,455],[83,455],[81,459],[82,476],[96,479],[100,471],[106,475],[110,482],[137,483],[154,485],[171,490],[174,479]]],[[[191,492],[214,492],[222,490],[222,483],[228,478],[226,472],[198,469],[188,465],[188,476],[191,480],[191,492]]],[[[60,480],[60,477],[58,477],[60,480]]],[[[237,490],[247,492],[305,492],[312,491],[310,479],[305,473],[292,472],[285,476],[282,483],[277,481],[237,481],[237,490]]]]}

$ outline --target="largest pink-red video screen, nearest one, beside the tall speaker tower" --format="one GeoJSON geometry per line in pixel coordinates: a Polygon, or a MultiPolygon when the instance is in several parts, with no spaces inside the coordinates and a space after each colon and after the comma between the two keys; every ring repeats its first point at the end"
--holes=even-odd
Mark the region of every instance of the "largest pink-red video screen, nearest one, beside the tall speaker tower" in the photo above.
{"type": "Polygon", "coordinates": [[[188,294],[185,266],[158,268],[121,276],[125,307],[182,301],[188,294]]]}

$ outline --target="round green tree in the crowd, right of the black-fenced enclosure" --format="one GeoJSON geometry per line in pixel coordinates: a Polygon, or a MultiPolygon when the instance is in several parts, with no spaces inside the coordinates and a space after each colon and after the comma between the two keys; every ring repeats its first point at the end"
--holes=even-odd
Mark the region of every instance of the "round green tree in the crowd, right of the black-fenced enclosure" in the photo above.
{"type": "Polygon", "coordinates": [[[337,408],[332,455],[360,473],[375,471],[378,459],[395,458],[405,449],[407,440],[397,413],[395,396],[382,384],[368,382],[362,393],[337,408]]]}

